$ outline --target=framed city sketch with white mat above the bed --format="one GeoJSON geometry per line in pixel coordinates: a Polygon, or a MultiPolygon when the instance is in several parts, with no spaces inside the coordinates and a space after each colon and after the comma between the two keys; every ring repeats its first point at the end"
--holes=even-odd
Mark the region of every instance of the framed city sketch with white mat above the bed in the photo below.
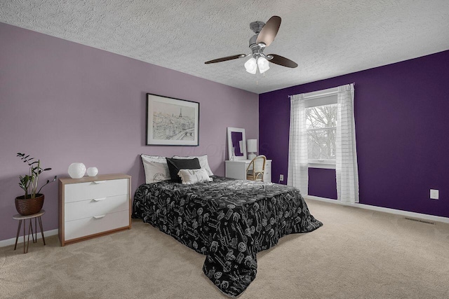
{"type": "Polygon", "coordinates": [[[199,146],[199,103],[147,93],[147,145],[199,146]]]}

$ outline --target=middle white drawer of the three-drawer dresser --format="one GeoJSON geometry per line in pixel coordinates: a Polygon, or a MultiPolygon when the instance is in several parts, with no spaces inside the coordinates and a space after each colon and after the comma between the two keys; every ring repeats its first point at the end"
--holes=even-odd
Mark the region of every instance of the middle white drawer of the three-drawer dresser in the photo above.
{"type": "Polygon", "coordinates": [[[73,221],[102,214],[114,213],[116,211],[129,210],[129,195],[117,195],[112,197],[101,197],[93,200],[81,200],[79,202],[68,202],[64,207],[65,221],[73,221]]]}

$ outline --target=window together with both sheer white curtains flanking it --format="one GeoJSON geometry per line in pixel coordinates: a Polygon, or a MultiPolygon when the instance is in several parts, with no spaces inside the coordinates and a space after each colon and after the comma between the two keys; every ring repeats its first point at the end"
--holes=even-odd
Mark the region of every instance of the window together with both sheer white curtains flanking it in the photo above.
{"type": "Polygon", "coordinates": [[[290,96],[288,180],[309,192],[309,167],[335,169],[337,199],[358,202],[354,83],[290,96]]]}

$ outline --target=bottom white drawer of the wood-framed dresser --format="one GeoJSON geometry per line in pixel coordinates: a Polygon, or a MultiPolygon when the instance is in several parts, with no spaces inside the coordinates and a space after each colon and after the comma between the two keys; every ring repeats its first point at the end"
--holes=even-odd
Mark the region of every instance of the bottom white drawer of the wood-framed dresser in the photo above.
{"type": "Polygon", "coordinates": [[[118,211],[116,213],[104,214],[95,217],[82,218],[65,223],[65,240],[88,237],[100,232],[107,232],[116,228],[129,225],[129,211],[118,211]]]}

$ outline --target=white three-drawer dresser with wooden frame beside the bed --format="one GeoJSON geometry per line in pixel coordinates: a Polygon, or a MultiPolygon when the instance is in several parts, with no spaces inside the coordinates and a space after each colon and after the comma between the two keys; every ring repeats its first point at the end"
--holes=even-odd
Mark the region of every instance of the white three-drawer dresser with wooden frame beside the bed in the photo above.
{"type": "Polygon", "coordinates": [[[131,176],[59,179],[61,246],[131,228],[131,176]]]}

